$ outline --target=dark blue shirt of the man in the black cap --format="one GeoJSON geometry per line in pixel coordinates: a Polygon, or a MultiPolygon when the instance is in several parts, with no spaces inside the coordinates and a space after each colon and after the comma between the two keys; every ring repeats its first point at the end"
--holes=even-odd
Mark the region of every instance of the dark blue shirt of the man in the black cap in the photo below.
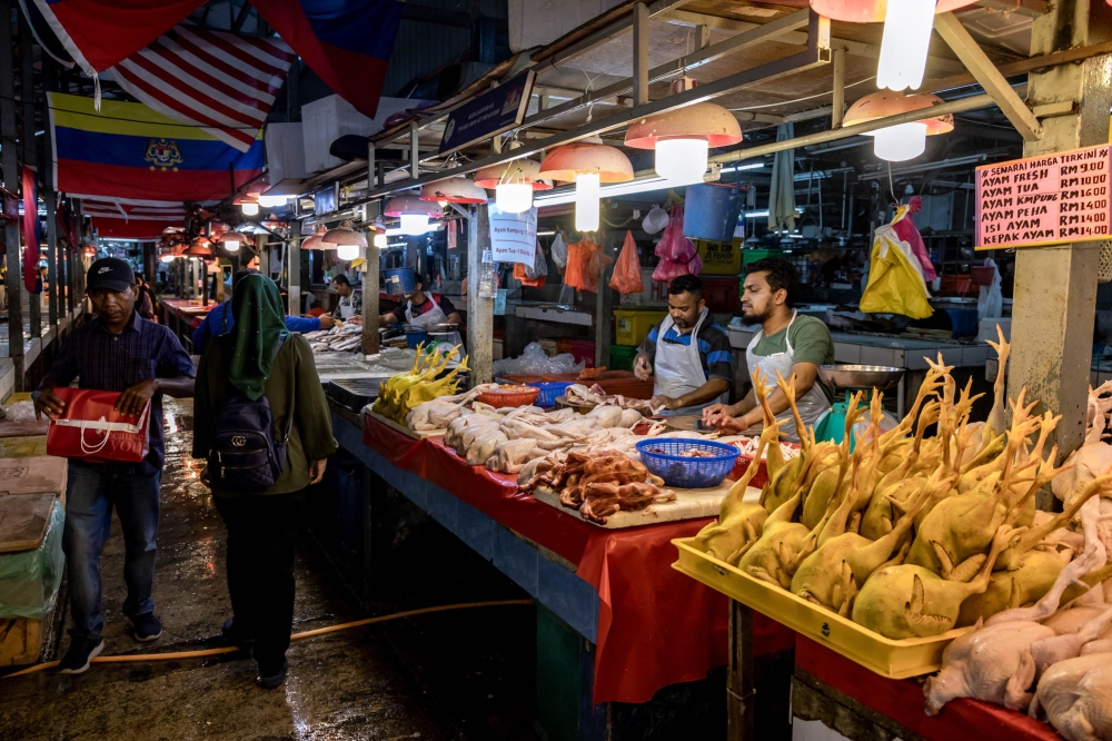
{"type": "MultiPolygon", "coordinates": [[[[88,322],[62,344],[47,379],[69,386],[79,378],[80,388],[122,392],[151,378],[195,378],[189,355],[169,327],[155,324],[132,313],[131,320],[118,335],[100,319],[88,322]]],[[[142,463],[108,464],[125,474],[149,476],[162,470],[166,443],[162,441],[162,395],[150,399],[150,451],[142,463]]]]}

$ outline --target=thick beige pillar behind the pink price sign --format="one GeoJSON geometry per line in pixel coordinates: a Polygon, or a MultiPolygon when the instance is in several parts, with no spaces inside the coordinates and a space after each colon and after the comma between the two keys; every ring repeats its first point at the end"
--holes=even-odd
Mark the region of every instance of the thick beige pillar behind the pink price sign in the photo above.
{"type": "MultiPolygon", "coordinates": [[[[1085,45],[1089,20],[1089,2],[1055,3],[1032,26],[1031,53],[1085,45]]],[[[1072,99],[1076,112],[1044,119],[1042,138],[1023,145],[1025,157],[1108,141],[1112,55],[1032,72],[1027,80],[1032,106],[1072,99]]],[[[1036,414],[1049,409],[1062,415],[1049,441],[1062,458],[1081,445],[1085,433],[1099,255],[1095,241],[1015,250],[1009,395],[1025,387],[1027,398],[1041,403],[1036,414]]],[[[1052,503],[1053,497],[1036,501],[1043,508],[1052,503]]]]}

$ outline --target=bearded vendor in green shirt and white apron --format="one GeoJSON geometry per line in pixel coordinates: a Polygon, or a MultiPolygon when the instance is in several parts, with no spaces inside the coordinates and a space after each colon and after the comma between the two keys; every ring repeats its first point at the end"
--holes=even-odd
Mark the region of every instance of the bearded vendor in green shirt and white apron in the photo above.
{"type": "MultiPolygon", "coordinates": [[[[747,266],[742,316],[759,324],[745,350],[749,373],[759,370],[773,391],[768,404],[787,439],[798,441],[787,398],[773,384],[776,373],[795,376],[795,398],[803,424],[811,427],[831,408],[833,391],[818,378],[818,366],[833,365],[834,340],[820,319],[800,316],[794,306],[795,269],[786,260],[767,258],[747,266]]],[[[727,433],[755,432],[764,413],[753,391],[737,404],[715,404],[703,411],[703,422],[727,433]]]]}

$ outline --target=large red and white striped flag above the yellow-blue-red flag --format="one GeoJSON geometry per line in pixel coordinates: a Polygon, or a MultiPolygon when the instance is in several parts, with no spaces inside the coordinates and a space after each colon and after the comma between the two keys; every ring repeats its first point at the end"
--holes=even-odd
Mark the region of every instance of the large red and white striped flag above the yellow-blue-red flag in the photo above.
{"type": "Polygon", "coordinates": [[[177,26],[111,72],[140,102],[247,151],[292,61],[280,39],[177,26]]]}

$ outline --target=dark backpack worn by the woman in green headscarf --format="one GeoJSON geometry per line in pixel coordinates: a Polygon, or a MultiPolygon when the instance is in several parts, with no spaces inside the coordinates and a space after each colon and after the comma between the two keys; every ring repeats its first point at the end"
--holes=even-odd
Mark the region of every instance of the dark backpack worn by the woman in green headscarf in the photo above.
{"type": "MultiPolygon", "coordinates": [[[[285,344],[278,343],[275,357],[285,344]]],[[[289,419],[275,439],[274,413],[266,396],[251,401],[237,392],[212,419],[212,443],[208,468],[212,484],[221,488],[259,490],[274,486],[286,467],[286,444],[294,429],[294,389],[290,388],[289,419]]]]}

